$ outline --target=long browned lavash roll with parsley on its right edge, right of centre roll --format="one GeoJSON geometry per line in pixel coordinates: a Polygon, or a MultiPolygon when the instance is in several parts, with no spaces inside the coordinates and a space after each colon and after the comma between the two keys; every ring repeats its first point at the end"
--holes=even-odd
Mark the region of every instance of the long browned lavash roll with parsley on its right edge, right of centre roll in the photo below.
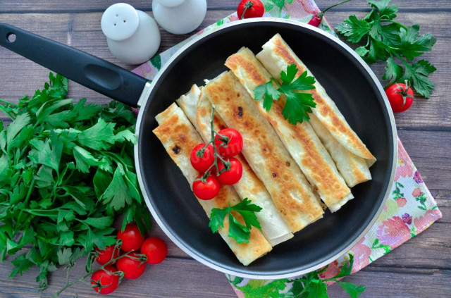
{"type": "MultiPolygon", "coordinates": [[[[254,88],[271,80],[271,75],[254,53],[244,47],[228,57],[226,66],[233,71],[252,99],[254,88]]],[[[285,97],[274,101],[269,111],[264,108],[263,101],[254,101],[254,104],[273,125],[292,158],[330,211],[337,211],[354,197],[311,125],[307,121],[292,125],[285,120],[282,114],[285,97]]]]}

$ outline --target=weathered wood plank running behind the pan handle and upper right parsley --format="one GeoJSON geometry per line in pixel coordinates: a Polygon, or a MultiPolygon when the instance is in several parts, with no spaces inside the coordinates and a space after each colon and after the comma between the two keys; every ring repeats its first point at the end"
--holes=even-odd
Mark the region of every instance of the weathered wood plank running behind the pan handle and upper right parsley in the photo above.
{"type": "MultiPolygon", "coordinates": [[[[209,11],[206,20],[201,27],[205,27],[215,20],[222,18],[232,11],[209,11]]],[[[330,14],[330,23],[338,24],[349,13],[338,12],[330,14]]],[[[432,32],[433,35],[441,36],[431,53],[425,54],[424,58],[429,59],[438,71],[431,75],[431,80],[437,86],[431,99],[416,98],[409,111],[397,113],[395,120],[398,128],[409,128],[417,130],[451,130],[451,101],[447,98],[448,77],[451,75],[450,54],[448,44],[450,35],[447,33],[451,27],[450,13],[435,13],[435,18],[440,22],[430,23],[428,13],[403,13],[399,16],[403,23],[421,23],[421,32],[432,32]]],[[[106,45],[106,39],[102,35],[99,25],[101,13],[75,13],[61,14],[54,17],[49,14],[5,14],[2,21],[22,27],[31,32],[39,32],[44,37],[49,37],[64,44],[70,44],[78,49],[87,51],[90,54],[99,56],[113,63],[117,63],[128,69],[135,66],[125,66],[114,58],[106,45]]],[[[182,41],[189,35],[170,35],[161,31],[162,43],[160,51],[169,46],[182,41]]],[[[42,77],[44,81],[48,75],[48,70],[37,66],[35,63],[27,61],[25,58],[13,54],[6,49],[0,49],[0,77],[3,78],[0,87],[0,96],[4,99],[16,100],[22,97],[24,92],[32,94],[40,83],[33,80],[35,77],[42,77]]],[[[376,75],[381,78],[384,73],[385,63],[376,63],[371,66],[376,75]]],[[[91,90],[71,83],[71,96],[87,97],[90,101],[106,102],[106,97],[91,90]]],[[[180,93],[184,91],[181,90],[180,93]]],[[[364,97],[362,97],[364,99],[364,97]]]]}

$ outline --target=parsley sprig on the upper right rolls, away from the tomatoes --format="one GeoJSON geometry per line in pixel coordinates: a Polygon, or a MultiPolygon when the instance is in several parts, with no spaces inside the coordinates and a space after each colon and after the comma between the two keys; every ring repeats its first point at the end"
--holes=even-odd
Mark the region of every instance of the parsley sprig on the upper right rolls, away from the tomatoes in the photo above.
{"type": "Polygon", "coordinates": [[[299,92],[315,89],[315,78],[307,76],[307,71],[304,71],[295,80],[296,74],[297,66],[293,63],[287,66],[286,73],[280,72],[281,84],[271,77],[266,84],[254,88],[254,99],[263,99],[263,107],[266,108],[266,111],[271,109],[273,101],[280,99],[280,94],[285,94],[286,101],[282,115],[292,125],[296,125],[298,122],[302,123],[303,120],[309,121],[307,113],[311,113],[311,108],[316,106],[314,98],[309,92],[299,92]]]}

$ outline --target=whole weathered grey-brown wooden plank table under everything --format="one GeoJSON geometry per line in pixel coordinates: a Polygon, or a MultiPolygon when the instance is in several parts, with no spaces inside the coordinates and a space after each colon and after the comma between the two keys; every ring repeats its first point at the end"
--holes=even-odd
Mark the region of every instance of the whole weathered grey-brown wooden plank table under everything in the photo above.
{"type": "MultiPolygon", "coordinates": [[[[2,0],[0,22],[49,37],[74,46],[125,68],[118,63],[106,45],[100,29],[104,10],[112,0],[2,0]]],[[[209,11],[200,28],[235,11],[238,0],[208,0],[209,11]]],[[[317,0],[320,8],[335,0],[317,0]]],[[[451,292],[451,1],[449,0],[395,0],[400,6],[398,18],[404,24],[421,24],[421,34],[431,32],[438,42],[433,51],[424,56],[438,69],[431,80],[436,88],[431,99],[417,98],[409,111],[395,115],[397,132],[404,147],[419,169],[426,185],[438,202],[443,218],[431,228],[409,240],[390,254],[378,259],[362,271],[346,278],[347,282],[366,285],[364,297],[450,297],[451,292]]],[[[129,4],[152,15],[152,0],[130,0],[129,4]]],[[[329,11],[326,16],[337,25],[351,14],[365,15],[366,1],[354,0],[329,11]]],[[[159,51],[182,41],[189,35],[171,35],[161,30],[159,51]]],[[[0,97],[16,101],[25,94],[33,94],[47,81],[49,70],[37,66],[6,49],[0,49],[0,97]]],[[[372,65],[378,77],[384,72],[384,63],[372,65]]],[[[89,101],[109,101],[74,82],[70,82],[70,97],[87,97],[89,101]]],[[[0,120],[6,120],[0,115],[0,120]]],[[[8,122],[6,122],[8,123],[8,122]]],[[[168,240],[154,225],[151,235],[162,237],[168,243],[169,255],[158,266],[149,266],[144,276],[125,280],[110,297],[235,297],[223,275],[191,259],[168,240]]],[[[11,264],[0,266],[0,297],[37,297],[35,277],[37,270],[27,271],[23,277],[8,279],[11,264]]],[[[73,277],[82,275],[80,261],[73,277]]],[[[44,296],[62,287],[65,273],[51,274],[49,289],[44,296]]],[[[328,290],[330,297],[347,297],[337,285],[328,290]]],[[[64,297],[90,297],[92,290],[80,283],[63,293],[64,297]]]]}

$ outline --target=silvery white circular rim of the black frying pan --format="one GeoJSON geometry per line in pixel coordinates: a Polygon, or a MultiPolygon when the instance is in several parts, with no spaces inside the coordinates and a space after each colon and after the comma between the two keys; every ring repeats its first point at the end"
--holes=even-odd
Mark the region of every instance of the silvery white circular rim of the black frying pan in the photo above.
{"type": "MultiPolygon", "coordinates": [[[[156,211],[154,210],[154,208],[152,206],[152,203],[151,203],[151,201],[149,199],[149,194],[147,194],[147,192],[145,191],[144,181],[143,181],[143,177],[142,177],[142,170],[140,168],[140,159],[139,159],[140,146],[139,146],[139,142],[137,142],[137,144],[135,144],[135,166],[136,166],[136,170],[137,170],[137,180],[138,180],[138,183],[139,183],[140,188],[142,190],[142,195],[144,197],[144,200],[146,201],[147,208],[152,213],[152,216],[154,217],[154,220],[159,225],[161,230],[163,230],[163,232],[169,237],[169,239],[171,239],[171,241],[173,241],[180,249],[182,249],[183,252],[185,252],[186,254],[191,256],[196,261],[199,261],[200,263],[203,263],[205,266],[213,268],[216,271],[220,271],[222,273],[226,273],[226,274],[230,274],[230,275],[240,276],[242,278],[253,278],[253,279],[293,278],[295,276],[299,276],[299,275],[302,275],[302,274],[309,273],[311,271],[317,270],[319,268],[322,268],[323,266],[326,266],[328,263],[331,263],[332,261],[335,261],[340,256],[342,256],[343,254],[348,252],[352,247],[354,247],[355,244],[357,244],[357,242],[359,242],[359,240],[362,239],[362,237],[364,237],[364,235],[366,235],[366,232],[369,231],[369,229],[376,222],[378,216],[380,216],[381,212],[383,211],[383,207],[385,206],[385,202],[387,201],[388,196],[390,194],[390,186],[393,185],[393,181],[394,181],[394,178],[395,178],[396,161],[397,161],[397,131],[396,131],[396,125],[395,125],[395,118],[393,116],[393,111],[390,108],[390,103],[388,101],[388,98],[386,97],[385,92],[383,91],[383,87],[381,85],[381,82],[379,82],[378,78],[373,73],[373,70],[371,70],[371,68],[369,68],[369,66],[363,61],[363,59],[360,56],[358,56],[355,53],[355,51],[352,48],[350,48],[350,46],[347,46],[347,44],[345,44],[340,39],[338,39],[338,37],[334,37],[333,35],[330,35],[330,33],[325,32],[325,31],[323,31],[323,30],[321,30],[319,28],[316,28],[316,27],[313,27],[311,25],[307,25],[307,24],[304,24],[304,23],[300,23],[299,21],[285,20],[285,19],[280,19],[280,18],[257,18],[257,19],[237,20],[237,21],[234,21],[234,22],[231,22],[231,23],[223,24],[220,27],[215,28],[214,30],[209,30],[207,32],[202,33],[198,37],[192,39],[190,42],[187,42],[187,44],[185,44],[175,54],[173,54],[173,56],[171,56],[171,58],[161,67],[161,69],[159,70],[159,73],[157,73],[156,77],[154,77],[154,80],[152,80],[152,82],[149,85],[147,85],[149,90],[152,90],[154,88],[156,83],[159,81],[159,78],[161,77],[161,75],[163,75],[163,73],[165,73],[165,71],[168,68],[168,66],[170,66],[171,63],[173,63],[173,61],[175,61],[175,59],[178,58],[178,56],[183,54],[183,52],[185,52],[187,49],[189,49],[193,44],[196,44],[200,40],[204,39],[205,37],[208,37],[209,35],[211,35],[211,34],[213,34],[215,32],[218,32],[219,30],[223,30],[223,29],[226,29],[226,28],[229,28],[229,27],[240,26],[240,25],[246,24],[246,23],[283,23],[283,24],[291,24],[291,25],[296,25],[298,27],[304,27],[307,30],[314,31],[314,32],[318,33],[319,35],[322,35],[323,37],[326,37],[327,39],[330,39],[330,42],[333,42],[335,44],[338,44],[338,46],[341,46],[342,49],[345,49],[349,54],[351,54],[361,64],[361,66],[364,68],[366,73],[369,74],[369,77],[371,77],[371,80],[373,80],[373,83],[377,87],[378,92],[381,93],[381,95],[383,97],[384,104],[385,104],[385,108],[386,108],[386,110],[388,112],[388,118],[390,120],[390,129],[392,131],[393,161],[392,161],[392,165],[391,165],[392,168],[391,168],[391,173],[390,173],[390,179],[388,180],[387,190],[385,190],[385,194],[384,194],[383,200],[381,201],[381,205],[378,207],[378,210],[374,214],[374,216],[371,219],[371,221],[369,222],[369,224],[366,226],[366,228],[364,228],[364,230],[362,230],[360,235],[358,237],[356,237],[356,239],[353,242],[351,242],[349,245],[347,245],[347,247],[342,249],[340,252],[334,254],[329,259],[326,259],[325,261],[323,261],[321,263],[317,263],[316,265],[311,266],[309,268],[304,268],[304,269],[299,270],[299,271],[292,271],[292,270],[290,270],[287,273],[277,273],[277,274],[274,274],[274,273],[262,273],[261,275],[256,275],[256,274],[251,274],[251,273],[242,273],[242,272],[239,272],[239,271],[230,270],[228,268],[223,268],[222,266],[219,266],[218,264],[216,264],[214,262],[211,262],[211,261],[208,261],[208,260],[202,258],[202,256],[200,256],[196,252],[192,252],[188,247],[185,246],[185,244],[183,244],[182,242],[180,242],[178,240],[178,237],[173,235],[173,233],[170,230],[168,230],[168,228],[166,228],[166,226],[163,224],[163,221],[161,220],[161,218],[159,218],[158,213],[156,213],[156,211]]],[[[150,92],[149,92],[149,94],[150,94],[150,92]]],[[[143,120],[144,110],[145,110],[145,107],[147,107],[148,100],[149,100],[149,97],[142,98],[142,99],[140,99],[140,102],[138,102],[138,106],[141,107],[140,108],[140,112],[138,113],[137,125],[136,125],[136,129],[135,129],[135,134],[137,135],[138,139],[139,139],[139,135],[140,135],[140,128],[141,128],[141,123],[142,123],[142,120],[143,120]]],[[[175,101],[175,99],[174,99],[174,101],[175,101]]]]}

